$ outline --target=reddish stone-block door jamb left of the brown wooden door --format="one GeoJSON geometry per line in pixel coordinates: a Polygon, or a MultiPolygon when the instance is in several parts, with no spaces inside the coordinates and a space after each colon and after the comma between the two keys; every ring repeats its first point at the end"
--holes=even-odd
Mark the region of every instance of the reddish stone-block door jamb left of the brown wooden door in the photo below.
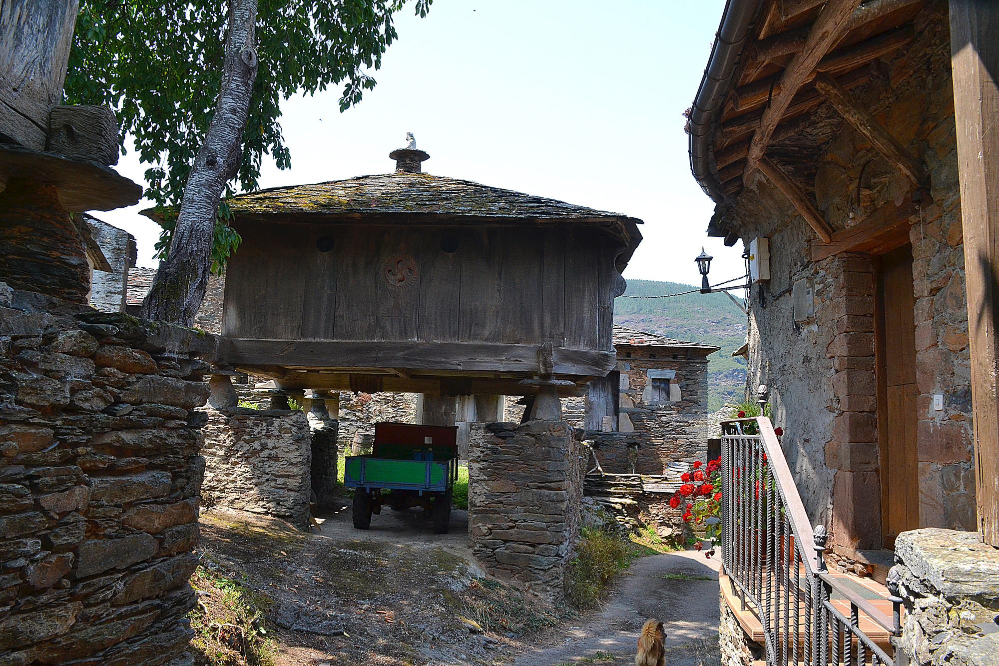
{"type": "Polygon", "coordinates": [[[837,412],[826,464],[833,477],[832,535],[848,549],[881,547],[881,484],[878,476],[877,385],[874,377],[874,270],[866,255],[840,255],[830,310],[836,331],[826,353],[832,359],[837,412]]]}

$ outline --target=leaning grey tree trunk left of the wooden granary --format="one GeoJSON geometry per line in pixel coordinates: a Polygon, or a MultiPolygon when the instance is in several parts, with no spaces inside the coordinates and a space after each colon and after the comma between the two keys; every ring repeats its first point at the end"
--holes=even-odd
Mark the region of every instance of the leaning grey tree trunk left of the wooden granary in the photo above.
{"type": "Polygon", "coordinates": [[[142,315],[190,326],[212,268],[216,211],[239,171],[243,127],[257,77],[257,0],[229,0],[229,29],[219,100],[205,143],[184,186],[170,254],[160,263],[142,315]]]}

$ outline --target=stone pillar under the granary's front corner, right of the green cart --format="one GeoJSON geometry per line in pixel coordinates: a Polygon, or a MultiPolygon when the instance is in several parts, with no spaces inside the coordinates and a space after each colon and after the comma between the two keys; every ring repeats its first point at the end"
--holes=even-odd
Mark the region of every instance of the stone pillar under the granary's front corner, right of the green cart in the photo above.
{"type": "Polygon", "coordinates": [[[584,459],[564,423],[491,423],[470,451],[469,532],[492,575],[554,602],[579,532],[584,459]]]}

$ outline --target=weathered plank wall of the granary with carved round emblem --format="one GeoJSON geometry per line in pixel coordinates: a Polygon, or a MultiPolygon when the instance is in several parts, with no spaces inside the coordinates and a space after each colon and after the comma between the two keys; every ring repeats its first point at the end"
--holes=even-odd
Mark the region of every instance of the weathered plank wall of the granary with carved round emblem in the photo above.
{"type": "Polygon", "coordinates": [[[610,350],[619,250],[595,229],[241,223],[223,333],[238,338],[426,340],[610,350]],[[320,237],[334,239],[320,252],[320,237]],[[442,240],[459,247],[446,252],[442,240]],[[394,287],[389,263],[417,278],[394,287]]]}

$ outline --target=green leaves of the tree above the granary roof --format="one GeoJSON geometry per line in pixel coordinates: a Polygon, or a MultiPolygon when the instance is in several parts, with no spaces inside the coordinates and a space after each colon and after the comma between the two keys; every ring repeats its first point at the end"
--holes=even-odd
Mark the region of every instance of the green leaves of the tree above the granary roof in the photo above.
{"type": "MultiPolygon", "coordinates": [[[[432,0],[416,0],[426,16],[432,0]]],[[[375,87],[370,71],[397,39],[393,15],[403,0],[260,0],[254,101],[243,132],[243,162],[231,188],[258,187],[269,154],[291,167],[280,103],[300,92],[343,85],[340,108],[375,87]]],[[[66,77],[66,103],[108,104],[135,137],[146,196],[179,207],[184,185],[215,111],[224,55],[226,3],[206,0],[81,0],[66,77]]],[[[220,217],[218,268],[239,244],[220,217]],[[220,229],[220,224],[225,229],[220,229]]],[[[172,227],[171,227],[172,228],[172,227]]],[[[157,246],[169,247],[170,229],[157,246]]],[[[216,256],[217,255],[217,256],[216,256]]]]}

